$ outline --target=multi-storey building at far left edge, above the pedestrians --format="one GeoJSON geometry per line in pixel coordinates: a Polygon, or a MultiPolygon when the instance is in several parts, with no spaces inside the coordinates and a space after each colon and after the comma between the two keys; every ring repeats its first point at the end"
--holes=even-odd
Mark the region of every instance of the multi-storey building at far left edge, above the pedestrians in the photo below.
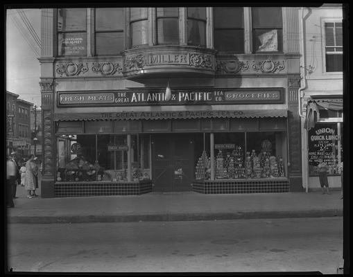
{"type": "Polygon", "coordinates": [[[16,152],[21,158],[30,153],[30,110],[33,103],[18,97],[18,94],[6,91],[6,154],[16,152]]]}

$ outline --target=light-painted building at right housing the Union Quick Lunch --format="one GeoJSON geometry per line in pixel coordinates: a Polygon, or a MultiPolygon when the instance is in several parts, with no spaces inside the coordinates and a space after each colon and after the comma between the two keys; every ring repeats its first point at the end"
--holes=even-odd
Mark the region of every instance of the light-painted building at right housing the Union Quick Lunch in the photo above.
{"type": "Polygon", "coordinates": [[[329,186],[341,187],[343,161],[343,7],[301,8],[302,172],[307,191],[320,188],[317,165],[329,165],[329,186]],[[307,123],[305,122],[307,116],[307,123]],[[307,127],[309,125],[309,128],[307,127]],[[305,128],[304,128],[305,127],[305,128]]]}

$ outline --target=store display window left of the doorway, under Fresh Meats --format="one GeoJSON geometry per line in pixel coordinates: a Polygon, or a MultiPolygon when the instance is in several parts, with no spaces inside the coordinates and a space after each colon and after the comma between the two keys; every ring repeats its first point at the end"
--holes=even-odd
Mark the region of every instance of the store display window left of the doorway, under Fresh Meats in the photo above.
{"type": "Polygon", "coordinates": [[[56,137],[56,181],[150,179],[150,136],[62,134],[56,137]]]}

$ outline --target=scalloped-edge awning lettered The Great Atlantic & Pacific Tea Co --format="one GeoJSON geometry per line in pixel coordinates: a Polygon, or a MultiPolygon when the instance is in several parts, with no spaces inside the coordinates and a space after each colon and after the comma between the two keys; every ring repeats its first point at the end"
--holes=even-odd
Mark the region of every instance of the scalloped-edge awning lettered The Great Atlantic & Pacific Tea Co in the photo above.
{"type": "Polygon", "coordinates": [[[244,110],[182,110],[182,111],[117,111],[102,113],[55,114],[54,121],[71,120],[139,120],[139,119],[191,119],[191,118],[264,118],[287,117],[286,109],[244,110]]]}

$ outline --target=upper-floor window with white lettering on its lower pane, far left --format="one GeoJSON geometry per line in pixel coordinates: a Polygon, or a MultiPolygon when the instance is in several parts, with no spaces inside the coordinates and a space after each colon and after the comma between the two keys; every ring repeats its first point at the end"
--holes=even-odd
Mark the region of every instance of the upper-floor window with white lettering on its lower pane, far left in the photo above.
{"type": "Polygon", "coordinates": [[[58,54],[87,55],[85,8],[58,9],[58,54]]]}

